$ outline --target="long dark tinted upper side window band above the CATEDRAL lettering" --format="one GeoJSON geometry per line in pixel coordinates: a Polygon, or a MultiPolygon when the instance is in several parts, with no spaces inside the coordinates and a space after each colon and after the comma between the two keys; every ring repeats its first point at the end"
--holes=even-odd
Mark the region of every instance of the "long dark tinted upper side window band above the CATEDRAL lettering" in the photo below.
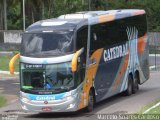
{"type": "Polygon", "coordinates": [[[138,15],[91,26],[91,54],[99,48],[128,41],[127,27],[136,27],[138,37],[147,31],[146,16],[138,15]]]}

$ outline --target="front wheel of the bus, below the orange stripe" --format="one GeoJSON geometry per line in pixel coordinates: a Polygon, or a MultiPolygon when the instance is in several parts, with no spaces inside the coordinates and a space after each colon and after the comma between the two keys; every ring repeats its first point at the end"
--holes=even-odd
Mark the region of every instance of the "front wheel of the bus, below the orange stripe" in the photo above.
{"type": "Polygon", "coordinates": [[[88,96],[88,106],[86,107],[86,111],[91,112],[93,111],[93,108],[94,108],[94,93],[93,90],[91,89],[88,96]]]}

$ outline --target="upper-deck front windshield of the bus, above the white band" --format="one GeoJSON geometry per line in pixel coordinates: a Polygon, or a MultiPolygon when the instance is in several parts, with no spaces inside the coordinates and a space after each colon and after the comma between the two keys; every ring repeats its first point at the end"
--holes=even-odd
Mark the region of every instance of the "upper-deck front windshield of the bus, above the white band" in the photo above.
{"type": "Polygon", "coordinates": [[[24,33],[21,55],[27,57],[61,56],[74,51],[73,31],[24,33]]]}

